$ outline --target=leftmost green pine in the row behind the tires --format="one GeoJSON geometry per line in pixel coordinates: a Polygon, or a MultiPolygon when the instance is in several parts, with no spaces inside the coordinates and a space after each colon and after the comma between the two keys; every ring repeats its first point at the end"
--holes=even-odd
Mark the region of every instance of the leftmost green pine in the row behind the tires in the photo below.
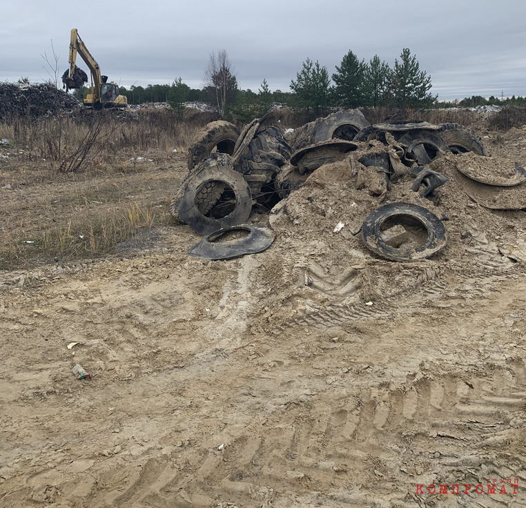
{"type": "Polygon", "coordinates": [[[319,116],[327,110],[331,97],[331,79],[327,67],[322,67],[316,61],[307,58],[300,72],[296,73],[296,81],[291,81],[294,93],[295,108],[306,113],[307,119],[319,116]]]}

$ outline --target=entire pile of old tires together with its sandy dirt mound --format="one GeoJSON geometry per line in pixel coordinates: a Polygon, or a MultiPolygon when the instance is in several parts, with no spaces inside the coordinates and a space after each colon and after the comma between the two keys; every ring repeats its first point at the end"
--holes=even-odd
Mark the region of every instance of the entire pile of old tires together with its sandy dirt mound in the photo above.
{"type": "Polygon", "coordinates": [[[267,275],[276,293],[286,293],[292,280],[347,304],[375,302],[445,273],[476,277],[526,262],[521,166],[488,157],[480,139],[458,124],[360,126],[357,115],[306,124],[287,134],[289,144],[276,127],[264,128],[264,119],[239,137],[226,122],[209,124],[190,150],[190,173],[171,207],[208,235],[191,255],[259,252],[245,223],[265,204],[270,242],[277,235],[282,247],[262,254],[273,260],[267,275]],[[249,235],[215,243],[222,228],[236,227],[249,235]]]}

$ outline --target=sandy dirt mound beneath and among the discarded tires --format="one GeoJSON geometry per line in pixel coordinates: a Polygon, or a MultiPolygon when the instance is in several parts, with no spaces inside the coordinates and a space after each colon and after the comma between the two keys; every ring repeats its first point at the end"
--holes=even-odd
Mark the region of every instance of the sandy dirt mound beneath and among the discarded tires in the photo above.
{"type": "MultiPolygon", "coordinates": [[[[284,294],[290,293],[291,281],[299,281],[293,292],[310,294],[311,299],[343,297],[345,304],[363,305],[411,293],[439,274],[476,274],[490,266],[509,268],[518,260],[526,261],[521,244],[525,238],[523,211],[489,210],[469,196],[472,186],[482,184],[462,175],[456,165],[477,156],[447,153],[429,164],[448,179],[438,188],[440,199],[434,204],[411,190],[412,175],[391,183],[384,199],[375,195],[382,173],[358,162],[370,150],[369,144],[360,144],[343,161],[315,170],[301,188],[273,209],[270,222],[278,240],[260,257],[275,252],[276,262],[277,257],[282,260],[286,276],[277,277],[277,283],[284,294]],[[362,240],[362,223],[369,213],[389,202],[429,209],[445,223],[447,246],[429,260],[411,264],[389,262],[371,253],[362,240]],[[340,222],[344,227],[335,233],[340,222]]],[[[381,152],[382,146],[374,145],[372,150],[381,152]]],[[[496,164],[487,157],[480,159],[487,159],[490,166],[496,164]]],[[[416,241],[426,234],[420,228],[407,230],[416,241]]]]}

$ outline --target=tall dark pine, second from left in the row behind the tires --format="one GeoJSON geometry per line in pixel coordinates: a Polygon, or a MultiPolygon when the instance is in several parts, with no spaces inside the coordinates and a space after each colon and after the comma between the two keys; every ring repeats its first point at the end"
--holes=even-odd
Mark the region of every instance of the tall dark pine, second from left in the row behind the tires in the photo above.
{"type": "Polygon", "coordinates": [[[351,51],[347,52],[333,74],[335,97],[345,108],[364,106],[366,102],[365,75],[367,64],[351,51]]]}

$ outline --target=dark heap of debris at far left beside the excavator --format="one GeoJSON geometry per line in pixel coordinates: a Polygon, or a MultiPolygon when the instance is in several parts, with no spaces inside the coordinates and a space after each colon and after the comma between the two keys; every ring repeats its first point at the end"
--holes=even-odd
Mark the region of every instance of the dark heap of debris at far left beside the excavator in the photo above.
{"type": "Polygon", "coordinates": [[[59,115],[79,107],[75,97],[46,83],[0,83],[0,120],[59,115]]]}

